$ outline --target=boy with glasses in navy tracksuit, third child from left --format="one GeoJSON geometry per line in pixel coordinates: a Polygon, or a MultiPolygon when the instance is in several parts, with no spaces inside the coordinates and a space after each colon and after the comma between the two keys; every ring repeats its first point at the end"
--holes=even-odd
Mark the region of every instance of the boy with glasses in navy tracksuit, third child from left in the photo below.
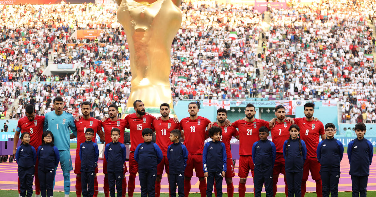
{"type": "Polygon", "coordinates": [[[92,137],[94,137],[94,129],[87,128],[85,131],[86,141],[80,144],[82,197],[94,195],[94,177],[99,149],[97,143],[91,141],[92,137]]]}

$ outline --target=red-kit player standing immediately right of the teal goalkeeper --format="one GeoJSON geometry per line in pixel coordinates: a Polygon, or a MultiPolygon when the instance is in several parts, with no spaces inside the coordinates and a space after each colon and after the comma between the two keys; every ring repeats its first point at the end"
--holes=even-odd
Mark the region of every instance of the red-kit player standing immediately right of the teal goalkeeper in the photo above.
{"type": "MultiPolygon", "coordinates": [[[[86,141],[85,132],[86,129],[92,128],[94,130],[94,136],[92,141],[96,142],[96,133],[100,136],[102,140],[105,141],[105,134],[102,131],[102,123],[93,117],[90,117],[91,112],[91,102],[84,101],[81,103],[82,118],[75,122],[77,128],[77,149],[76,149],[76,159],[74,161],[74,173],[76,176],[76,195],[81,197],[81,159],[80,159],[80,146],[79,144],[86,141]]],[[[72,134],[71,134],[72,135],[72,134]]],[[[72,137],[72,136],[71,136],[72,137]]],[[[95,174],[98,173],[98,167],[95,169],[95,174]]],[[[98,196],[98,180],[97,175],[94,177],[94,197],[98,196]]]]}

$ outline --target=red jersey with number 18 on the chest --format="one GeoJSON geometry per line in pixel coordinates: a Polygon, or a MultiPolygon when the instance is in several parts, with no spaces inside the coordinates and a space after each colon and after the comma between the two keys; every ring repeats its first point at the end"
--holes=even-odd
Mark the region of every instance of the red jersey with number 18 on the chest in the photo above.
{"type": "Polygon", "coordinates": [[[175,123],[174,119],[168,120],[153,120],[153,127],[155,128],[155,143],[161,148],[163,156],[167,156],[167,147],[172,144],[170,141],[170,132],[174,129],[180,130],[180,124],[175,123]]]}

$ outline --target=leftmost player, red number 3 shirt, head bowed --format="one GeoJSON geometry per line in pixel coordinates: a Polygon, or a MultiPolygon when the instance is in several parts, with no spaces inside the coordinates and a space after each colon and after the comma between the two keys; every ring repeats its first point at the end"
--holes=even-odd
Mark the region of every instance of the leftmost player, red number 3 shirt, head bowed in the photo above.
{"type": "MultiPolygon", "coordinates": [[[[20,133],[28,132],[30,134],[30,145],[38,150],[38,147],[42,144],[41,138],[43,134],[44,116],[35,115],[34,105],[27,105],[25,108],[26,117],[18,120],[16,132],[14,134],[13,141],[13,155],[16,154],[18,139],[20,139],[20,133]]],[[[35,196],[39,197],[41,188],[39,185],[38,177],[38,157],[35,164],[35,196]]],[[[18,192],[20,192],[20,179],[18,179],[18,192]]]]}

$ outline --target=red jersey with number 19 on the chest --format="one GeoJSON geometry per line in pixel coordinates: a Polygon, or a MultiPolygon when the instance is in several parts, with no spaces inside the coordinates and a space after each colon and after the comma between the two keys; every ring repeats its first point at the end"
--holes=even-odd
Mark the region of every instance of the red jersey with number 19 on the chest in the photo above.
{"type": "Polygon", "coordinates": [[[208,131],[205,130],[209,123],[210,120],[202,116],[195,120],[186,117],[180,121],[180,128],[184,130],[184,145],[189,154],[202,154],[205,135],[208,135],[208,131]]]}

